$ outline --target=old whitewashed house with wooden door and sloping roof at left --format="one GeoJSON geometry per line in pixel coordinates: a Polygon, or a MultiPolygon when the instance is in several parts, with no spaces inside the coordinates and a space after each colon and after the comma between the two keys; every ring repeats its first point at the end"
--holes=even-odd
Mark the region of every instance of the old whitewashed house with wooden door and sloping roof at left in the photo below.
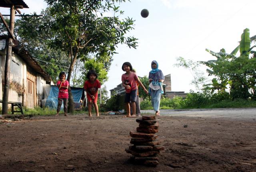
{"type": "MultiPolygon", "coordinates": [[[[0,96],[3,96],[4,68],[6,59],[7,36],[0,36],[0,96]]],[[[50,85],[52,78],[31,57],[27,50],[20,46],[12,47],[10,63],[10,90],[8,101],[22,102],[22,106],[34,108],[41,106],[43,86],[50,85]]],[[[52,83],[53,84],[53,83],[52,83]]]]}

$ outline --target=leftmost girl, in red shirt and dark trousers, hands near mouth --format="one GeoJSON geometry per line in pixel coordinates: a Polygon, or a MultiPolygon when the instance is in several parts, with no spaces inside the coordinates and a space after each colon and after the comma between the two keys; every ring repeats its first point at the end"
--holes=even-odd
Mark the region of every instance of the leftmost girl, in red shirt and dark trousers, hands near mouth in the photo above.
{"type": "Polygon", "coordinates": [[[57,106],[57,114],[55,116],[59,115],[60,112],[60,107],[64,105],[64,115],[67,115],[68,111],[68,86],[69,82],[66,80],[66,73],[65,72],[60,72],[59,74],[60,80],[57,82],[57,86],[59,88],[59,95],[58,95],[58,106],[57,106]]]}

